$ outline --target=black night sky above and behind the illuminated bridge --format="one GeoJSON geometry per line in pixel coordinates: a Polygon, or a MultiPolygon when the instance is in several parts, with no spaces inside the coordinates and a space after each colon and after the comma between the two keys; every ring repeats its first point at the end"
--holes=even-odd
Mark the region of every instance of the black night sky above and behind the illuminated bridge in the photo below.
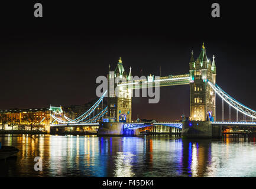
{"type": "MultiPolygon", "coordinates": [[[[141,69],[159,76],[160,66],[161,76],[187,74],[191,51],[197,58],[204,42],[208,58],[216,57],[216,83],[256,110],[256,11],[249,2],[219,2],[221,18],[211,17],[211,1],[37,2],[43,18],[34,18],[33,1],[1,3],[0,109],[82,105],[119,57],[133,76],[141,69]]],[[[221,99],[216,106],[221,119],[221,99]]],[[[132,119],[177,120],[182,109],[189,116],[189,85],[161,87],[157,104],[132,99],[132,119]]]]}

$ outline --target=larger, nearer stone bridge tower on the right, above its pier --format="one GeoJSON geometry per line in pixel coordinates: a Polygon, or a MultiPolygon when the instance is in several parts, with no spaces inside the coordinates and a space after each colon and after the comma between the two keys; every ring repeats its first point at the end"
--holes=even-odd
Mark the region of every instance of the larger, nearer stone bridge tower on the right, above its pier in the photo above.
{"type": "Polygon", "coordinates": [[[196,61],[193,51],[190,58],[190,118],[192,120],[215,120],[216,94],[209,86],[207,80],[216,83],[215,56],[210,61],[206,56],[205,45],[196,61]]]}

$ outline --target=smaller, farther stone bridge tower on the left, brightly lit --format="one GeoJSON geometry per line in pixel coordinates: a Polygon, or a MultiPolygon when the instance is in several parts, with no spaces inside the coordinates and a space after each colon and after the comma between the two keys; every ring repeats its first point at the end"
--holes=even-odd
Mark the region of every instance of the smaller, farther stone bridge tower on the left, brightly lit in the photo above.
{"type": "Polygon", "coordinates": [[[116,122],[131,122],[132,89],[128,89],[127,85],[118,86],[122,82],[131,80],[131,67],[127,75],[120,57],[114,71],[111,71],[109,65],[107,77],[108,118],[114,118],[116,122]]]}

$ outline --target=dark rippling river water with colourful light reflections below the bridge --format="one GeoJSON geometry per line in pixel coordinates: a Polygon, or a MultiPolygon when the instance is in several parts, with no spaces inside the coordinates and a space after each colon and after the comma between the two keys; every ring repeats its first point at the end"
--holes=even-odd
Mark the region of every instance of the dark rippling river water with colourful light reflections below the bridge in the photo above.
{"type": "Polygon", "coordinates": [[[180,139],[1,135],[20,149],[0,161],[5,177],[255,177],[255,138],[180,139]],[[43,171],[34,171],[34,158],[43,171]]]}

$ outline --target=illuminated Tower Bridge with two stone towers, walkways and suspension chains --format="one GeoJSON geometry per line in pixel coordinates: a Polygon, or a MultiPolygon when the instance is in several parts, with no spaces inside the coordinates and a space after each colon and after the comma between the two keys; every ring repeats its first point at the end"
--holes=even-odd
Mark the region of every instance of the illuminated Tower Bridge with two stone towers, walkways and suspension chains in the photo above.
{"type": "Polygon", "coordinates": [[[51,115],[53,123],[51,126],[86,126],[98,124],[98,135],[123,135],[125,131],[134,131],[138,129],[153,126],[166,126],[168,128],[177,128],[182,131],[183,136],[187,137],[212,137],[222,135],[222,126],[256,126],[253,119],[256,118],[256,111],[242,105],[227,94],[216,84],[216,64],[215,56],[212,60],[206,55],[205,45],[202,45],[199,56],[195,59],[193,51],[189,61],[189,73],[177,76],[156,77],[150,76],[134,79],[129,68],[129,74],[126,73],[119,58],[115,70],[111,71],[109,65],[108,90],[103,93],[99,100],[76,119],[67,118],[66,115],[51,115]],[[118,80],[118,82],[114,82],[118,80]],[[184,118],[183,122],[154,122],[142,123],[132,122],[132,93],[136,89],[147,89],[150,87],[176,86],[187,84],[190,87],[190,116],[184,118]],[[117,90],[115,90],[117,89],[117,90]],[[103,106],[103,97],[107,95],[108,105],[102,107],[101,112],[95,110],[103,106]],[[216,120],[216,94],[222,99],[222,121],[216,120]],[[230,109],[236,109],[236,122],[225,122],[223,118],[223,103],[226,102],[230,109]],[[238,122],[238,112],[245,117],[252,119],[251,122],[238,122]],[[98,123],[101,120],[100,123],[98,123]]]}

